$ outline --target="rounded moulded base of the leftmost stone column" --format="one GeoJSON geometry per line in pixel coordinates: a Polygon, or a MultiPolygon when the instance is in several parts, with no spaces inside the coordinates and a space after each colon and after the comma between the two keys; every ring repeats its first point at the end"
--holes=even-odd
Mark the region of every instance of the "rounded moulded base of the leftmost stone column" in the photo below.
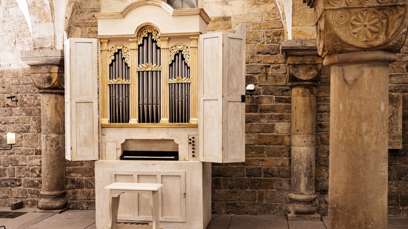
{"type": "Polygon", "coordinates": [[[41,210],[60,210],[67,207],[65,191],[60,192],[40,192],[41,199],[38,202],[38,208],[41,210]]]}

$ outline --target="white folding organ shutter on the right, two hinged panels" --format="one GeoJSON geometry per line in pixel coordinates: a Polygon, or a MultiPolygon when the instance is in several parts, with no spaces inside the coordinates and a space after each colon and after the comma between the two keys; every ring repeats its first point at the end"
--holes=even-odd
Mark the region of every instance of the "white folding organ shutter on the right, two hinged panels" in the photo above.
{"type": "Polygon", "coordinates": [[[200,161],[245,161],[245,27],[199,39],[200,161]]]}

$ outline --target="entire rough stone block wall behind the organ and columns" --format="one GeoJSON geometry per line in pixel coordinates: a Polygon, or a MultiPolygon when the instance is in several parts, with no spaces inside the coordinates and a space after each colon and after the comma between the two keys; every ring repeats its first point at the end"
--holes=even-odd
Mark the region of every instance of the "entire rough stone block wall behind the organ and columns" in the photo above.
{"type": "MultiPolygon", "coordinates": [[[[73,14],[68,37],[94,38],[99,0],[70,1],[73,14]]],[[[41,110],[29,68],[20,51],[32,48],[27,23],[14,0],[0,0],[0,146],[6,132],[16,132],[17,144],[0,151],[0,206],[23,201],[36,207],[41,190],[41,110]],[[6,97],[16,95],[18,102],[6,97]]],[[[213,163],[213,213],[284,215],[290,190],[291,89],[286,60],[280,51],[283,24],[273,0],[199,1],[212,18],[210,31],[247,28],[246,83],[256,84],[246,104],[246,161],[213,163]]],[[[299,34],[298,34],[299,35],[299,34]]],[[[299,35],[300,36],[300,35],[299,35]]],[[[389,156],[389,215],[408,217],[408,46],[391,64],[390,92],[403,94],[403,149],[389,156]]],[[[317,87],[316,191],[320,214],[327,215],[329,154],[329,69],[322,68],[317,87]]],[[[94,209],[94,163],[66,161],[69,207],[94,209]]]]}

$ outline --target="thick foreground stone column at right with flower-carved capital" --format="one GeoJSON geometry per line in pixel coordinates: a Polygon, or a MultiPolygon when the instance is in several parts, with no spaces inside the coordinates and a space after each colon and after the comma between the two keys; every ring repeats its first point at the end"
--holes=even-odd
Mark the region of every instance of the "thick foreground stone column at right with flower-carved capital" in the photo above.
{"type": "Polygon", "coordinates": [[[388,65],[405,42],[406,1],[309,4],[331,66],[329,228],[387,228],[388,65]]]}

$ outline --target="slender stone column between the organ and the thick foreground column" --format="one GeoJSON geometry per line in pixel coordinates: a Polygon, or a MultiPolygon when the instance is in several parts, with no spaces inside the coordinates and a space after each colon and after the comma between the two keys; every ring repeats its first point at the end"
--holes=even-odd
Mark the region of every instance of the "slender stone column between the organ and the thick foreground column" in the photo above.
{"type": "Polygon", "coordinates": [[[292,88],[291,191],[288,220],[321,220],[315,193],[316,86],[322,59],[313,40],[282,45],[292,88]]]}

